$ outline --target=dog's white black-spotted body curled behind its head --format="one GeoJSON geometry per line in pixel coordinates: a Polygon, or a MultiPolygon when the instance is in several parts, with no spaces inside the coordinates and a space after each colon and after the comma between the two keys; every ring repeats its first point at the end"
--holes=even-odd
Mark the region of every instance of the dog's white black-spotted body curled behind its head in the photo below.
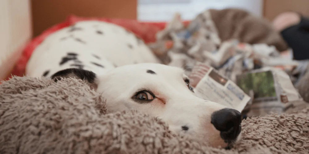
{"type": "Polygon", "coordinates": [[[47,76],[67,68],[104,75],[117,66],[159,63],[133,33],[99,21],[78,22],[47,37],[33,52],[26,68],[32,77],[47,76]]]}

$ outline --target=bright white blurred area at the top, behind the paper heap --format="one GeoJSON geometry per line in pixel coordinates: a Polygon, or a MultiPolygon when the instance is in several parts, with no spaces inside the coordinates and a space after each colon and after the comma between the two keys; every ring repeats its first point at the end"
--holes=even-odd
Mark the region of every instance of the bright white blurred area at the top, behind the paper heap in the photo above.
{"type": "Polygon", "coordinates": [[[262,0],[138,0],[138,20],[169,21],[175,12],[180,12],[185,20],[193,19],[201,11],[227,7],[241,8],[262,17],[262,0]],[[151,3],[152,2],[152,3],[151,3]]]}

